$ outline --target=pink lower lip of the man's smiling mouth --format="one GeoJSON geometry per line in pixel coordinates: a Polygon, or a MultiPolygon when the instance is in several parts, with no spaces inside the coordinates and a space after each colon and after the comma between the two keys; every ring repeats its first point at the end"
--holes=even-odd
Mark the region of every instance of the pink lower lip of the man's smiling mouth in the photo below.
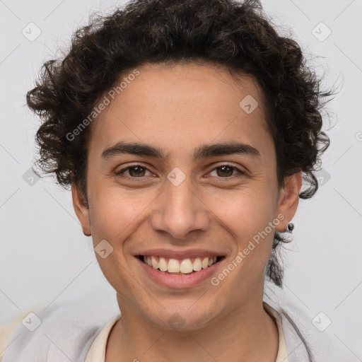
{"type": "Polygon", "coordinates": [[[163,286],[167,286],[168,288],[191,288],[192,286],[197,286],[197,284],[206,281],[206,279],[210,279],[212,274],[218,268],[218,265],[223,261],[219,261],[216,264],[212,264],[211,267],[207,267],[206,269],[201,269],[199,271],[194,271],[190,274],[170,274],[164,271],[160,271],[159,269],[154,269],[153,267],[148,267],[147,264],[142,262],[138,257],[136,259],[141,264],[141,267],[146,271],[146,274],[151,277],[151,279],[158,282],[158,284],[162,284],[163,286]]]}

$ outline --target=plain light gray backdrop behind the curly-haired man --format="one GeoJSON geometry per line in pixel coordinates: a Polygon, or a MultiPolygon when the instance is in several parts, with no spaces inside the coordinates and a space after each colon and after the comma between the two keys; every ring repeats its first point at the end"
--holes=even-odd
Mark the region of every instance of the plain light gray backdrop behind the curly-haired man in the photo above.
{"type": "MultiPolygon", "coordinates": [[[[108,13],[115,4],[0,0],[0,323],[88,291],[115,302],[91,238],[81,231],[71,193],[51,179],[32,182],[28,170],[40,123],[25,106],[25,93],[42,62],[69,44],[71,33],[88,22],[91,11],[108,13]],[[35,40],[31,37],[39,30],[31,22],[41,31],[35,40]]],[[[320,312],[332,321],[328,329],[345,361],[362,361],[362,1],[262,4],[281,33],[293,30],[306,52],[320,56],[310,64],[318,74],[327,73],[325,88],[336,83],[340,89],[327,105],[330,121],[337,124],[329,129],[326,117],[332,142],[323,156],[322,185],[313,199],[300,200],[293,219],[294,241],[284,254],[284,290],[311,322],[320,312]],[[322,39],[328,28],[332,33],[322,39]]]]}

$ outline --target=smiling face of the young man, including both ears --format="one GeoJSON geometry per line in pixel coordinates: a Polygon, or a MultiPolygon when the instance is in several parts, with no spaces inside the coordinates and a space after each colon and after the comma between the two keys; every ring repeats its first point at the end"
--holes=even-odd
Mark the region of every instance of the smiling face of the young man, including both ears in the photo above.
{"type": "Polygon", "coordinates": [[[93,121],[89,209],[72,185],[74,208],[122,313],[199,328],[262,300],[300,174],[279,189],[253,78],[192,63],[138,71],[93,121]]]}

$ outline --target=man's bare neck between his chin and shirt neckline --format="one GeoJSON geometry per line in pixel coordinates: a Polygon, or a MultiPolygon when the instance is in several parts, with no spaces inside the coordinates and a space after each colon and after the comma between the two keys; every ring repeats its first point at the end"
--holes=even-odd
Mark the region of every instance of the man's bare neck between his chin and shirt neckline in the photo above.
{"type": "Polygon", "coordinates": [[[276,323],[264,310],[262,298],[189,331],[154,325],[122,304],[122,317],[110,333],[105,361],[275,362],[278,345],[276,323]]]}

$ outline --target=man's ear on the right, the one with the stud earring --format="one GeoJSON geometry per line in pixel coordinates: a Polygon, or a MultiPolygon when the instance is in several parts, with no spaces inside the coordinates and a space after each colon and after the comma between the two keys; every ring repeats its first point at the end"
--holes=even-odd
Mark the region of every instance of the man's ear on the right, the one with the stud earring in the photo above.
{"type": "Polygon", "coordinates": [[[280,190],[276,210],[276,215],[284,216],[284,219],[276,226],[276,230],[281,233],[286,231],[289,221],[296,214],[301,187],[302,171],[284,178],[284,187],[280,190]]]}

